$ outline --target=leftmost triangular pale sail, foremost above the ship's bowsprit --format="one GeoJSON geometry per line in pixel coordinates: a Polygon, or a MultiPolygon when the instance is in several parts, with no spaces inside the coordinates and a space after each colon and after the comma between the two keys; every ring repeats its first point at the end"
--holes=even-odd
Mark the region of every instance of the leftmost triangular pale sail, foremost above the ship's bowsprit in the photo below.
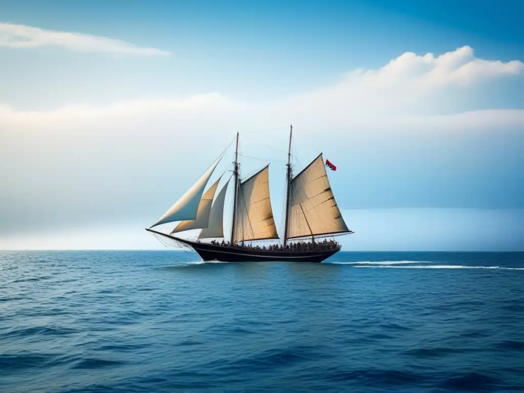
{"type": "Polygon", "coordinates": [[[155,224],[151,225],[151,228],[160,224],[166,224],[174,221],[195,220],[196,214],[198,212],[198,206],[200,204],[200,199],[204,193],[205,185],[208,184],[211,174],[223,156],[224,154],[222,154],[219,159],[217,159],[213,165],[205,171],[202,177],[196,183],[194,183],[192,187],[186,191],[185,194],[183,194],[182,197],[177,202],[175,202],[155,224]]]}

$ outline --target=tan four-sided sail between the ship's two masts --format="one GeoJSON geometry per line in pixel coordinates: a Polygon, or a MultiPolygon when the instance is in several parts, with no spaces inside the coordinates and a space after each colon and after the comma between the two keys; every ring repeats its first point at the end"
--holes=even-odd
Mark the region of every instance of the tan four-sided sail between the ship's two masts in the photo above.
{"type": "Polygon", "coordinates": [[[235,210],[233,242],[278,239],[269,198],[269,165],[239,185],[235,210]]]}

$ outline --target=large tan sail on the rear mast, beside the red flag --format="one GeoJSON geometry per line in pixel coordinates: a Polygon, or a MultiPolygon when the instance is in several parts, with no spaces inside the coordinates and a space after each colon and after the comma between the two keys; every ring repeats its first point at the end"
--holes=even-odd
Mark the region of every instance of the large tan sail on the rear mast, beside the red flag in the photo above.
{"type": "Polygon", "coordinates": [[[349,232],[320,154],[291,181],[287,238],[349,232]]]}

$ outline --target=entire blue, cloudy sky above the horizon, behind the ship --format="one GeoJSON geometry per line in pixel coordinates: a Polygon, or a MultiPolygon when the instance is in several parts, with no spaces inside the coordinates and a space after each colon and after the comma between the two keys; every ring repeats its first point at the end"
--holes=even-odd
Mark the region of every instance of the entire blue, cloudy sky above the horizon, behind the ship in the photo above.
{"type": "Polygon", "coordinates": [[[0,249],[161,248],[237,131],[281,228],[293,124],[344,250],[524,250],[524,5],[247,3],[0,1],[0,249]]]}

